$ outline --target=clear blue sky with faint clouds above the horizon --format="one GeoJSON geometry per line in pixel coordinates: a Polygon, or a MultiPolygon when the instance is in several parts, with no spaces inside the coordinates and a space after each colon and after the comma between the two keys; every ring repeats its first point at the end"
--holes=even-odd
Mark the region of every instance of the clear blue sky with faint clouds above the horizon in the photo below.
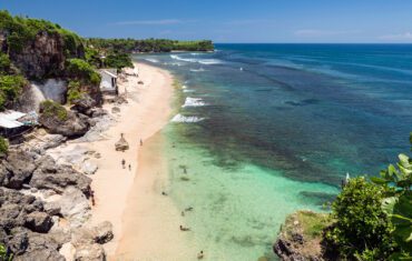
{"type": "Polygon", "coordinates": [[[82,37],[412,43],[412,0],[0,0],[82,37]]]}

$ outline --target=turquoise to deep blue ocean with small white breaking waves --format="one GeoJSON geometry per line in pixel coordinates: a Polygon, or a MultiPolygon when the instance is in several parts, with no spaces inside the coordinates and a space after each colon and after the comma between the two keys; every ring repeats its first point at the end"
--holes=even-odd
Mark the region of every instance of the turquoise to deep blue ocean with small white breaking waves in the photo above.
{"type": "Polygon", "coordinates": [[[411,44],[216,44],[138,54],[177,79],[168,191],[209,260],[276,260],[287,214],[409,150],[411,44]]]}

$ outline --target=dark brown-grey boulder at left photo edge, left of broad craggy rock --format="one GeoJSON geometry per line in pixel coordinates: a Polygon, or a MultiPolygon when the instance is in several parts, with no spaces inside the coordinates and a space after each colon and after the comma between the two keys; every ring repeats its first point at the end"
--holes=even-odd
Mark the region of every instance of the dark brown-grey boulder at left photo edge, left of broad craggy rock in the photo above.
{"type": "Polygon", "coordinates": [[[21,189],[36,169],[33,158],[22,150],[10,150],[0,167],[0,181],[10,189],[21,189]]]}

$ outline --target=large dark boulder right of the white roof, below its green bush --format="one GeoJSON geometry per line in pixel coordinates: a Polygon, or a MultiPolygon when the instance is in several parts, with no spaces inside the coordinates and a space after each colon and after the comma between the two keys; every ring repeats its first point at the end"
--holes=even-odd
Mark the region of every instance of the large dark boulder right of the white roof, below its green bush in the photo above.
{"type": "Polygon", "coordinates": [[[52,134],[62,134],[69,138],[84,135],[90,128],[87,117],[72,111],[67,112],[66,119],[41,113],[39,123],[52,134]]]}

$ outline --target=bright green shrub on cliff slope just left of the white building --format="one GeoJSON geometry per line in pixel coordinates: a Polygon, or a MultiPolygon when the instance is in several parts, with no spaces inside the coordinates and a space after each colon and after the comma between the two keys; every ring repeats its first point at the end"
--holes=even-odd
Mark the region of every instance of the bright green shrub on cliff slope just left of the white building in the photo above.
{"type": "Polygon", "coordinates": [[[100,83],[100,74],[85,60],[70,59],[68,60],[67,70],[75,79],[81,80],[85,83],[97,86],[100,83]]]}

